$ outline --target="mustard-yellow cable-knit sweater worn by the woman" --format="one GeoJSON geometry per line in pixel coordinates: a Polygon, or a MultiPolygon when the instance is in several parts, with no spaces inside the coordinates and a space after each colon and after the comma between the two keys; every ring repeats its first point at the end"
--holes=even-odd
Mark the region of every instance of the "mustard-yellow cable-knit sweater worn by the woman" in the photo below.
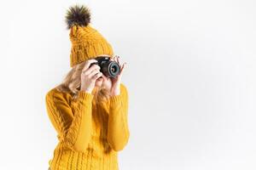
{"type": "Polygon", "coordinates": [[[98,105],[94,94],[71,94],[52,88],[45,96],[49,120],[58,144],[49,160],[51,170],[118,170],[118,151],[130,137],[128,92],[123,83],[120,94],[98,105]]]}

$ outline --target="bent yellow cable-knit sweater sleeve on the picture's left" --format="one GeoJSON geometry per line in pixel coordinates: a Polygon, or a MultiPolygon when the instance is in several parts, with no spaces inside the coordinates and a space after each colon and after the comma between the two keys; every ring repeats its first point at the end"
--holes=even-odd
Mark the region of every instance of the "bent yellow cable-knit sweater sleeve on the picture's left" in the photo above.
{"type": "Polygon", "coordinates": [[[85,152],[90,141],[93,94],[79,91],[73,109],[59,92],[46,94],[45,103],[50,122],[58,138],[72,150],[85,152]]]}

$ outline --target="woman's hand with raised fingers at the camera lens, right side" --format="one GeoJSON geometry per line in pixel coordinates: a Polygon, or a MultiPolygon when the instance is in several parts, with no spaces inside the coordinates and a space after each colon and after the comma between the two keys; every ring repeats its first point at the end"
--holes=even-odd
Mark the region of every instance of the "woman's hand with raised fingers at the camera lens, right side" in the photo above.
{"type": "Polygon", "coordinates": [[[122,75],[123,75],[123,72],[124,72],[125,65],[127,63],[125,62],[124,64],[120,65],[120,63],[119,63],[119,56],[117,56],[117,55],[114,56],[113,58],[111,58],[110,60],[116,61],[119,64],[119,66],[120,66],[119,75],[117,77],[110,78],[111,82],[112,82],[112,87],[110,89],[110,95],[111,96],[115,96],[115,95],[119,95],[120,94],[121,78],[122,78],[122,75]]]}

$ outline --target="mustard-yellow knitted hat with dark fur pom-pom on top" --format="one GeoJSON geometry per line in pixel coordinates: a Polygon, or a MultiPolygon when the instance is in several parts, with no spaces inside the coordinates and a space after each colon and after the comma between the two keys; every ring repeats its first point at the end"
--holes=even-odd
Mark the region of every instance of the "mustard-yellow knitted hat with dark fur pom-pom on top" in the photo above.
{"type": "Polygon", "coordinates": [[[99,31],[90,25],[90,9],[84,5],[74,5],[67,10],[67,29],[72,42],[70,66],[97,55],[108,54],[113,57],[113,48],[99,31]]]}

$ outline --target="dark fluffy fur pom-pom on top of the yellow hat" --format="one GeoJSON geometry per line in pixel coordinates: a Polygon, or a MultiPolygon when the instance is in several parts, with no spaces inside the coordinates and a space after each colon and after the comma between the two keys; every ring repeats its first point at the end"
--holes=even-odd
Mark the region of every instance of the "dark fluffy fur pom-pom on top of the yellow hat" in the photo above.
{"type": "Polygon", "coordinates": [[[90,23],[90,9],[84,5],[69,7],[66,14],[67,29],[74,25],[87,26],[90,23]]]}

